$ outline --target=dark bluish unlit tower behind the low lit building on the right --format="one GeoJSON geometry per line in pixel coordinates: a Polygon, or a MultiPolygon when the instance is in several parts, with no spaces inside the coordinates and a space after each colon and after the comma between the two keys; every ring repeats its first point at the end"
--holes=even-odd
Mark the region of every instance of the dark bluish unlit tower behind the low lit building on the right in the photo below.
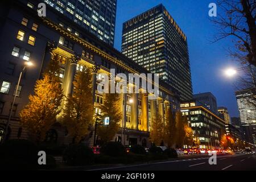
{"type": "Polygon", "coordinates": [[[207,109],[218,114],[216,97],[210,92],[198,93],[193,95],[193,99],[201,102],[207,109]]]}

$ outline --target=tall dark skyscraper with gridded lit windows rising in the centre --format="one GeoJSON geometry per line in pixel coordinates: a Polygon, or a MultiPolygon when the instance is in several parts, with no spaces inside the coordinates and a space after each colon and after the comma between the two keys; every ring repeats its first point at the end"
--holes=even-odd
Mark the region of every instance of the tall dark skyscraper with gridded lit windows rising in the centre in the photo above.
{"type": "Polygon", "coordinates": [[[187,37],[162,4],[123,23],[122,53],[191,100],[187,37]]]}

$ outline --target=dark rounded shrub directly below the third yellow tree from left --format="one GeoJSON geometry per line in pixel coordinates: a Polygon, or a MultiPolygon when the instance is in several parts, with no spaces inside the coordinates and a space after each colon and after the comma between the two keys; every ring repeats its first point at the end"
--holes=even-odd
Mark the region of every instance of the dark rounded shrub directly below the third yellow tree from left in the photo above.
{"type": "Polygon", "coordinates": [[[126,154],[125,147],[120,142],[108,142],[101,147],[100,151],[109,156],[124,156],[126,154]]]}

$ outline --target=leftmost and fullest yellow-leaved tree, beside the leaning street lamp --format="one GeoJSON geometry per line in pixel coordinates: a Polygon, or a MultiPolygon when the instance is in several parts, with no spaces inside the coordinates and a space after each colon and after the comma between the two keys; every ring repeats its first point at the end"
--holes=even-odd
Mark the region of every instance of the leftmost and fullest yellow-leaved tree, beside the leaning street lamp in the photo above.
{"type": "Polygon", "coordinates": [[[20,112],[20,124],[26,127],[28,135],[35,142],[42,142],[46,138],[47,131],[61,111],[64,95],[60,86],[59,63],[59,57],[53,55],[42,80],[36,81],[34,94],[28,97],[28,104],[20,112]]]}

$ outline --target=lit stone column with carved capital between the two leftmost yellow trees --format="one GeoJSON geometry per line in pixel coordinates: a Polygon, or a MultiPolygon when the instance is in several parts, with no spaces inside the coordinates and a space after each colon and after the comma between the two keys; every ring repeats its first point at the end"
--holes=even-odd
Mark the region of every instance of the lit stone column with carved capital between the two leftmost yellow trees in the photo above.
{"type": "Polygon", "coordinates": [[[74,77],[76,75],[76,65],[77,65],[77,63],[80,60],[81,60],[81,57],[77,56],[77,55],[73,55],[69,59],[70,65],[69,65],[69,69],[68,69],[66,96],[69,96],[70,94],[72,94],[72,91],[73,91],[73,80],[74,80],[74,77]]]}

